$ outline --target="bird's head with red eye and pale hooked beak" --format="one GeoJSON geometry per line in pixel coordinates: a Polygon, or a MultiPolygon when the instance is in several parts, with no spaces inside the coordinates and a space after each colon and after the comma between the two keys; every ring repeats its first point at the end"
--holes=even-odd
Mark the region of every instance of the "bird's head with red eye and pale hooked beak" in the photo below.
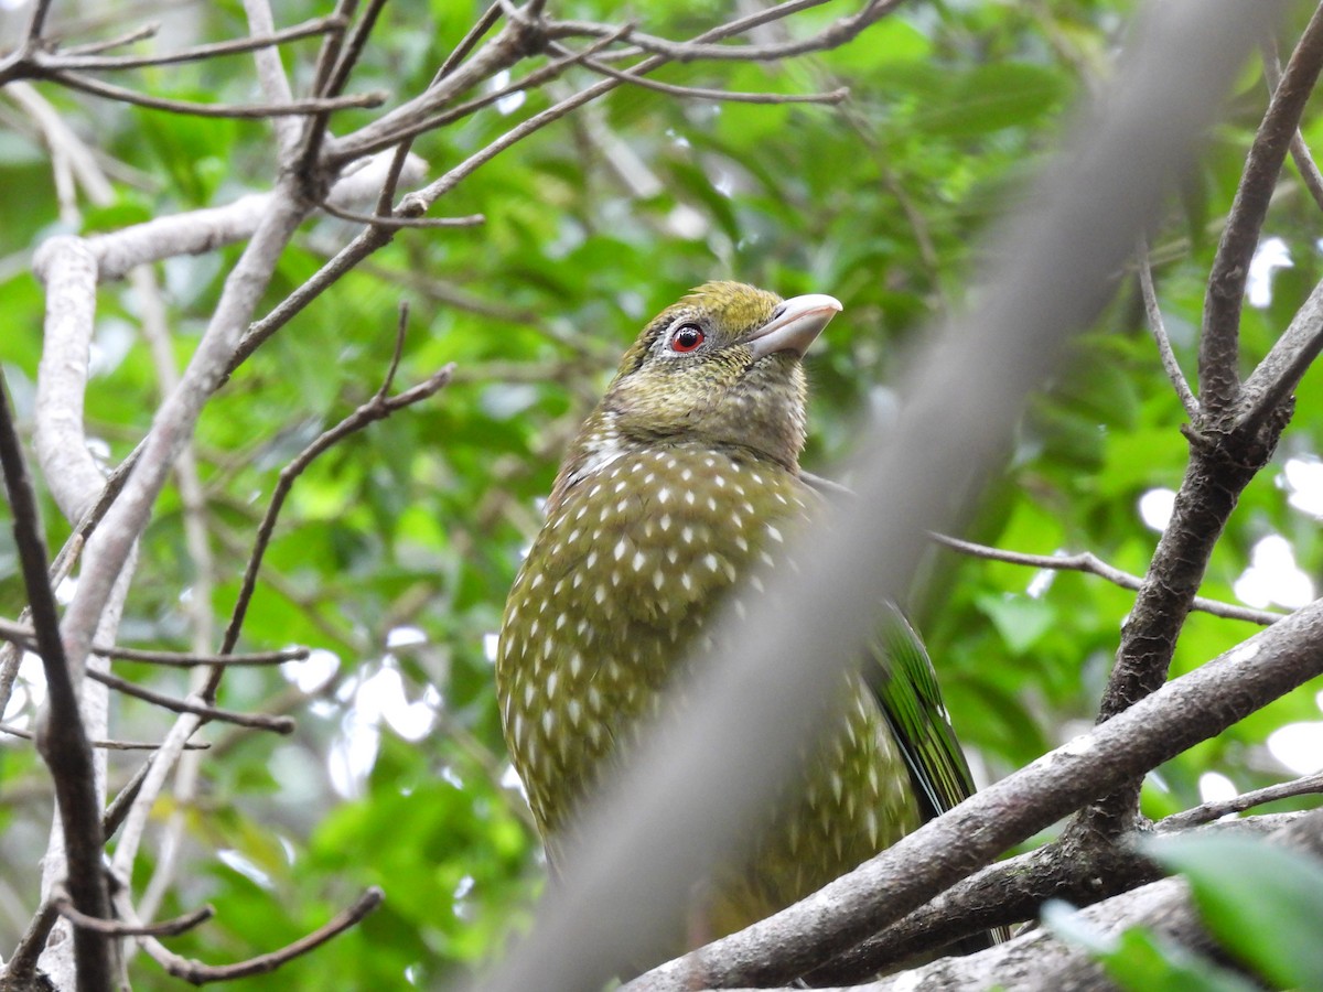
{"type": "Polygon", "coordinates": [[[782,300],[744,283],[706,283],[667,307],[624,353],[583,442],[704,443],[790,470],[804,443],[800,357],[840,311],[831,296],[782,300]]]}

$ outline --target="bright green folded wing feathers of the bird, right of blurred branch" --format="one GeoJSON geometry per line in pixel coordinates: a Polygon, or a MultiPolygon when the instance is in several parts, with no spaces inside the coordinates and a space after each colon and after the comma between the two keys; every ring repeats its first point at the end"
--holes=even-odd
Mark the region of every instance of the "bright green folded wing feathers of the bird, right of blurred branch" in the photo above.
{"type": "Polygon", "coordinates": [[[923,819],[938,816],[974,794],[964,751],[951,729],[937,672],[923,641],[901,615],[890,614],[877,635],[876,664],[867,677],[905,755],[923,819]]]}

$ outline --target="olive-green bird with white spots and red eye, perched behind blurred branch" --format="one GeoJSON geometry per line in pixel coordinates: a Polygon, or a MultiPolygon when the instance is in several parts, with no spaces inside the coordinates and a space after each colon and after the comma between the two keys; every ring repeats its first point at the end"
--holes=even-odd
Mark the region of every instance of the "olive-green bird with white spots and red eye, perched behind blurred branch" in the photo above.
{"type": "MultiPolygon", "coordinates": [[[[553,873],[722,603],[757,595],[824,500],[799,467],[802,358],[840,311],[824,294],[703,284],[647,323],[570,444],[496,652],[505,741],[553,873]]],[[[703,886],[703,939],[802,899],[972,794],[922,641],[894,607],[878,615],[816,757],[751,852],[703,886]]]]}

